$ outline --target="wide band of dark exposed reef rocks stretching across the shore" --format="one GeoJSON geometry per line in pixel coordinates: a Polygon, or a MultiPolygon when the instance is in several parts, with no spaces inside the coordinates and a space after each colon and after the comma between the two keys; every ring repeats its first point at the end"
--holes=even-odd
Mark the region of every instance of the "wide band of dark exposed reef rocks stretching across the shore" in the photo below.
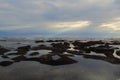
{"type": "Polygon", "coordinates": [[[36,61],[52,66],[67,65],[78,62],[73,59],[75,55],[82,56],[85,59],[120,64],[120,58],[118,58],[120,57],[119,47],[114,47],[114,45],[120,45],[119,43],[118,41],[104,42],[102,40],[84,42],[80,40],[36,40],[35,44],[38,44],[37,46],[27,44],[14,50],[0,46],[0,59],[2,59],[0,66],[9,66],[20,61],[36,61]],[[44,44],[46,42],[49,43],[49,46],[44,44]],[[44,54],[44,52],[39,52],[41,50],[49,51],[44,54]],[[115,50],[117,51],[115,52],[115,50]],[[33,51],[29,54],[30,57],[28,57],[29,51],[33,51]],[[92,54],[93,52],[94,54],[92,54]],[[113,55],[114,53],[117,57],[113,55]]]}

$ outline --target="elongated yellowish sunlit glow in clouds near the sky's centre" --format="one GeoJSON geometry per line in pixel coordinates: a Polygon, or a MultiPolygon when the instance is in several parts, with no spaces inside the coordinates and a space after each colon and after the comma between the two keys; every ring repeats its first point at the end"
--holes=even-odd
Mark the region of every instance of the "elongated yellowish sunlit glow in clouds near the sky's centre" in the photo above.
{"type": "Polygon", "coordinates": [[[69,22],[52,22],[47,24],[49,28],[56,31],[56,34],[52,36],[56,36],[59,34],[63,34],[69,31],[80,30],[85,27],[88,27],[91,24],[91,21],[69,21],[69,22]]]}

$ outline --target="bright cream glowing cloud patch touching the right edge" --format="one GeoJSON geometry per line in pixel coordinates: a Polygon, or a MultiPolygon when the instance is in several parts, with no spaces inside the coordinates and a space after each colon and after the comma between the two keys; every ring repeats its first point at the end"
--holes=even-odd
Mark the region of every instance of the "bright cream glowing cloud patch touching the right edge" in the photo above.
{"type": "Polygon", "coordinates": [[[102,23],[99,27],[102,29],[118,31],[120,30],[120,18],[115,18],[106,23],[102,23]]]}

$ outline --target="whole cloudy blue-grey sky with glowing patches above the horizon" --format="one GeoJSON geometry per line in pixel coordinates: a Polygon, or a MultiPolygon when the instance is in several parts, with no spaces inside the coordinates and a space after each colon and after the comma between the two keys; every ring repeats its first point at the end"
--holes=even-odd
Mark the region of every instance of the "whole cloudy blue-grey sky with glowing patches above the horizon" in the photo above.
{"type": "Polygon", "coordinates": [[[120,37],[120,0],[0,0],[0,37],[120,37]]]}

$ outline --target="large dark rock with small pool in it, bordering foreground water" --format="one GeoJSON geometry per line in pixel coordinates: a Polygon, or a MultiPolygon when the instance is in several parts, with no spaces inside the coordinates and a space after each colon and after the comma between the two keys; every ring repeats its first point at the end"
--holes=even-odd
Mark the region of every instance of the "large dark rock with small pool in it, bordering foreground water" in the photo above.
{"type": "Polygon", "coordinates": [[[65,55],[42,55],[37,58],[28,58],[27,61],[37,61],[42,64],[52,65],[52,66],[59,66],[59,65],[67,65],[67,64],[73,64],[76,63],[76,60],[73,60],[65,55]]]}

